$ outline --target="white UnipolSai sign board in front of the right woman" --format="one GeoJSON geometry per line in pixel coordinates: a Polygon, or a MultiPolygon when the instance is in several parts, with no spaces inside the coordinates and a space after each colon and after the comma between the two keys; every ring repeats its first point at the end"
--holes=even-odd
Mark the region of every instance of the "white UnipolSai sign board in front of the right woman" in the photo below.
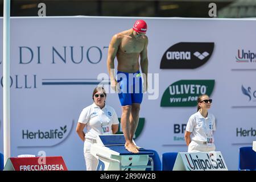
{"type": "Polygon", "coordinates": [[[188,163],[187,168],[190,171],[196,170],[211,170],[211,169],[227,169],[224,160],[222,160],[221,155],[214,156],[214,154],[207,154],[207,158],[199,158],[198,155],[195,156],[185,154],[186,162],[188,163]]]}

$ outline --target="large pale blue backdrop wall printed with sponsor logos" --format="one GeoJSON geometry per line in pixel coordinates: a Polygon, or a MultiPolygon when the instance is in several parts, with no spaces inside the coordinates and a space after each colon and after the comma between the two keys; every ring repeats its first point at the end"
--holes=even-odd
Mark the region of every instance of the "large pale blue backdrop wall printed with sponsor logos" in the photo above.
{"type": "MultiPolygon", "coordinates": [[[[136,19],[11,18],[11,156],[44,151],[63,156],[68,169],[85,169],[77,119],[93,103],[99,83],[105,86],[106,104],[121,117],[118,95],[109,86],[108,46],[114,34],[131,28],[136,19]]],[[[185,125],[197,111],[197,97],[206,93],[213,99],[209,112],[216,118],[216,150],[229,169],[237,169],[238,148],[251,145],[256,130],[256,35],[250,33],[256,30],[255,19],[145,20],[148,93],[135,142],[159,155],[187,151],[185,125]]],[[[2,59],[0,68],[2,103],[2,59]]]]}

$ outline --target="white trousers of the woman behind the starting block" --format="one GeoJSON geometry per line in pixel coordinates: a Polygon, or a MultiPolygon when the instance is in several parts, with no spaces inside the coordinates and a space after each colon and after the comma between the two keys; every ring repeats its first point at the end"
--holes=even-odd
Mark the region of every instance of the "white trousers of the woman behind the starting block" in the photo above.
{"type": "Polygon", "coordinates": [[[96,171],[98,166],[98,159],[90,154],[90,146],[95,143],[93,139],[85,139],[84,142],[84,159],[86,164],[86,171],[96,171]]]}

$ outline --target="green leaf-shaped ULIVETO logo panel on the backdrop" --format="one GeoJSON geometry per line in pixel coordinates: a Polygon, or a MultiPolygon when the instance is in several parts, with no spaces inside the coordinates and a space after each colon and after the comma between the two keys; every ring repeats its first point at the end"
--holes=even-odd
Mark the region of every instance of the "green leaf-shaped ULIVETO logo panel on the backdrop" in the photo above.
{"type": "Polygon", "coordinates": [[[180,80],[164,91],[161,107],[191,107],[197,105],[197,97],[201,94],[210,96],[214,88],[214,80],[180,80]]]}

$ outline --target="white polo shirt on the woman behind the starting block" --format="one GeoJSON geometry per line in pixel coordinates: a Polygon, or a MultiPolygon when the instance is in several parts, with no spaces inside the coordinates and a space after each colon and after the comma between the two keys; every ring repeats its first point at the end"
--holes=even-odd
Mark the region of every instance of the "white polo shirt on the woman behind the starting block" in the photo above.
{"type": "Polygon", "coordinates": [[[102,134],[101,125],[109,125],[111,129],[112,125],[119,124],[117,113],[113,107],[105,105],[101,109],[94,102],[81,111],[78,122],[86,124],[85,138],[89,139],[96,139],[96,135],[102,134]]]}

